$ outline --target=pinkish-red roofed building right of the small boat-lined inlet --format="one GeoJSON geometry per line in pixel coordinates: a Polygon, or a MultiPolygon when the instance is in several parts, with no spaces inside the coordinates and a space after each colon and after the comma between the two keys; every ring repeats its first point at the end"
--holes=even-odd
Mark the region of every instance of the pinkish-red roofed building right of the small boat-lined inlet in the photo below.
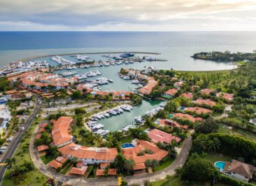
{"type": "Polygon", "coordinates": [[[170,142],[172,142],[173,140],[175,140],[175,142],[179,143],[182,139],[179,137],[176,137],[174,135],[165,133],[161,130],[158,130],[156,128],[154,128],[153,130],[150,131],[150,133],[147,134],[148,137],[150,137],[152,142],[161,142],[161,143],[166,143],[169,144],[170,142]]]}

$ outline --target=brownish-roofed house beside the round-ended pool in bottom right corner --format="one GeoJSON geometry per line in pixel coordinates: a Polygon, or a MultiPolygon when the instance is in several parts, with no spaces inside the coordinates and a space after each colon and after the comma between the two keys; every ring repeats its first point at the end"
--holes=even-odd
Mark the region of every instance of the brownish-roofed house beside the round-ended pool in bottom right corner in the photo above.
{"type": "Polygon", "coordinates": [[[246,182],[253,178],[255,172],[256,167],[237,160],[225,162],[225,167],[223,169],[223,174],[246,182]]]}

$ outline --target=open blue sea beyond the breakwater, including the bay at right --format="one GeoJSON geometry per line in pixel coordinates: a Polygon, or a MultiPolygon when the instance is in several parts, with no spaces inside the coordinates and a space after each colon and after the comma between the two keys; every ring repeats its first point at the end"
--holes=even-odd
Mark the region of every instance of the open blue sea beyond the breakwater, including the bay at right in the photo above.
{"type": "Polygon", "coordinates": [[[145,51],[161,53],[161,69],[219,70],[234,64],[193,60],[200,51],[253,51],[254,32],[0,32],[0,66],[57,53],[145,51]]]}

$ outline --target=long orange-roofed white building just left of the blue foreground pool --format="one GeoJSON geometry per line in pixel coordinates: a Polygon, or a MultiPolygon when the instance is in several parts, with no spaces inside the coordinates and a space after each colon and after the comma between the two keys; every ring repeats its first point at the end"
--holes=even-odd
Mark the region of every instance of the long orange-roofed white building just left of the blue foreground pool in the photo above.
{"type": "Polygon", "coordinates": [[[69,158],[77,158],[86,164],[100,164],[102,162],[114,162],[115,156],[118,155],[116,148],[97,148],[87,147],[78,144],[67,144],[58,149],[63,155],[67,155],[69,158]]]}

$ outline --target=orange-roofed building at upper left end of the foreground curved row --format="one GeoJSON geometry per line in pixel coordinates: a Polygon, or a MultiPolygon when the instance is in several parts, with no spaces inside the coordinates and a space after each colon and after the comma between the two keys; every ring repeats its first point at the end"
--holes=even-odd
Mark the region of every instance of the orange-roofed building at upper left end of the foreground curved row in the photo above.
{"type": "Polygon", "coordinates": [[[73,136],[70,134],[71,125],[74,124],[72,117],[60,117],[53,121],[54,128],[51,130],[53,144],[61,147],[73,142],[73,136]]]}

